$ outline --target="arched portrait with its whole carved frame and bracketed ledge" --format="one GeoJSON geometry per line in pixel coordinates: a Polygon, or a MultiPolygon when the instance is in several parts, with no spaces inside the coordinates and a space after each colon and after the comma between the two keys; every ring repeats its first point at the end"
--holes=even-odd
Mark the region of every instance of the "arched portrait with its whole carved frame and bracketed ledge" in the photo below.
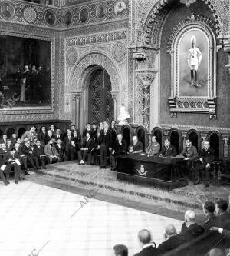
{"type": "Polygon", "coordinates": [[[216,118],[216,41],[212,28],[201,20],[182,23],[169,38],[172,117],[177,112],[209,113],[216,118]]]}

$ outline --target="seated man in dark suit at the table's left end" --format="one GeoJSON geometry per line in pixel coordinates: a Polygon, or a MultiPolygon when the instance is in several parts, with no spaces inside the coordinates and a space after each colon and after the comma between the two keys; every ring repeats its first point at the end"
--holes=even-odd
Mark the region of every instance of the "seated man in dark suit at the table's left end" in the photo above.
{"type": "Polygon", "coordinates": [[[128,150],[128,145],[126,140],[123,139],[122,134],[117,135],[117,140],[113,145],[113,150],[111,154],[111,170],[117,170],[117,156],[125,155],[128,150]]]}

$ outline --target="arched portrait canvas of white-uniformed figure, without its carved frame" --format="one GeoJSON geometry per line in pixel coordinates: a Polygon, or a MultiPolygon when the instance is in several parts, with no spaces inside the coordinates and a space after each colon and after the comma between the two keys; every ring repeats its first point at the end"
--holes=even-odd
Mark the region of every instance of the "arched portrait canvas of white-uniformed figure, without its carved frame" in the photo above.
{"type": "Polygon", "coordinates": [[[191,29],[179,40],[179,96],[208,97],[209,38],[191,29]]]}

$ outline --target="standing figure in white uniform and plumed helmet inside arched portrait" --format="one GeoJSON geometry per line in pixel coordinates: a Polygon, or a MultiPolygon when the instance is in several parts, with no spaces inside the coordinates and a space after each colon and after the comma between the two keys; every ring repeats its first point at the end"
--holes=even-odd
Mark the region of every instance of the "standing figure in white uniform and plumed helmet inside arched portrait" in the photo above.
{"type": "Polygon", "coordinates": [[[192,35],[191,38],[192,47],[189,49],[188,55],[188,65],[191,71],[191,86],[199,85],[199,65],[202,61],[202,53],[199,51],[199,48],[195,47],[196,38],[192,35]]]}

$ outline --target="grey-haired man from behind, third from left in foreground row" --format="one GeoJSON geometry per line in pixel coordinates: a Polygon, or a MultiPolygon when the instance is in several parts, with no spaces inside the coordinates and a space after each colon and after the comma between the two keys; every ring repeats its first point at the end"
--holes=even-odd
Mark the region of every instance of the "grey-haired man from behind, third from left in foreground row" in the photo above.
{"type": "Polygon", "coordinates": [[[160,254],[164,254],[168,251],[171,251],[179,245],[183,244],[182,239],[179,237],[179,234],[176,233],[176,228],[169,224],[164,230],[165,240],[162,244],[159,244],[157,250],[160,254]]]}

